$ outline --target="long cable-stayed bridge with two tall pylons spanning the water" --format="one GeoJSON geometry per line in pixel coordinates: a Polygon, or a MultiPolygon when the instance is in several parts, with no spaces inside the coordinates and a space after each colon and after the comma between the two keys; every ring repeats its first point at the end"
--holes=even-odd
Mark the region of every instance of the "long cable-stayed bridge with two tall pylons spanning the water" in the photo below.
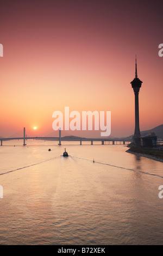
{"type": "Polygon", "coordinates": [[[80,138],[80,137],[62,137],[61,138],[61,130],[59,130],[59,137],[39,137],[39,136],[28,136],[26,135],[26,128],[24,127],[23,129],[23,136],[22,137],[8,137],[8,138],[1,138],[1,146],[3,145],[3,141],[12,141],[12,140],[19,140],[22,139],[23,140],[23,145],[26,145],[26,141],[27,139],[42,139],[42,140],[51,140],[51,141],[59,141],[58,145],[61,145],[61,141],[79,141],[80,145],[82,145],[82,142],[88,141],[91,142],[91,145],[93,145],[93,141],[101,141],[102,145],[106,144],[106,142],[108,142],[108,144],[117,144],[117,142],[120,142],[120,144],[128,144],[130,142],[133,141],[125,141],[124,139],[107,139],[107,138],[80,138]]]}

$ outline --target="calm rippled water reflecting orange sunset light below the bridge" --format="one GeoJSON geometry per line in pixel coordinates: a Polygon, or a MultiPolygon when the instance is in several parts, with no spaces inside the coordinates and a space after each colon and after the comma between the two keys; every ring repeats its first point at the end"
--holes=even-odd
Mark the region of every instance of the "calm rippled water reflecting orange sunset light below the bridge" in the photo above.
{"type": "Polygon", "coordinates": [[[163,163],[124,145],[57,143],[0,147],[1,245],[163,245],[163,163]]]}

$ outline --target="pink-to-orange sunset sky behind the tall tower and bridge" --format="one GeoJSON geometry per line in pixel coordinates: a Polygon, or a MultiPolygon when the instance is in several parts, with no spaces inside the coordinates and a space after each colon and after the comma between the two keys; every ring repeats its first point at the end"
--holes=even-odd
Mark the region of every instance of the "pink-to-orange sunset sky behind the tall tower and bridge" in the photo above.
{"type": "Polygon", "coordinates": [[[65,106],[111,111],[111,136],[132,135],[135,54],[140,130],[163,123],[162,1],[3,1],[0,8],[0,136],[23,127],[46,136],[53,112],[65,106]]]}

